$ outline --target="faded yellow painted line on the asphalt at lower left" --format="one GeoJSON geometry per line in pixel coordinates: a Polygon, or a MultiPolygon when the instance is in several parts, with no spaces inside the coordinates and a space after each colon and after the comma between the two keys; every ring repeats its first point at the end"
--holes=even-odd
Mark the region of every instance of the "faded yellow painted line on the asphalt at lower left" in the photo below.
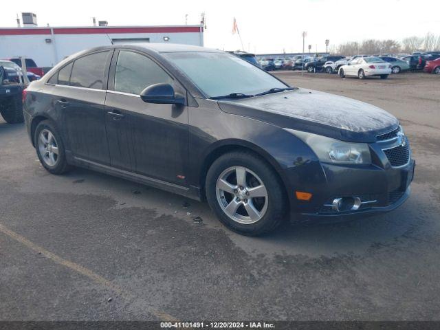
{"type": "MultiPolygon", "coordinates": [[[[47,259],[50,259],[54,261],[54,263],[58,263],[58,265],[63,265],[70,270],[74,270],[74,272],[80,273],[84,276],[87,276],[91,279],[91,281],[94,281],[100,285],[103,285],[104,287],[107,287],[111,289],[111,291],[119,294],[122,296],[122,298],[126,300],[134,300],[135,296],[129,292],[124,291],[122,288],[120,288],[118,285],[115,285],[111,283],[111,281],[107,280],[107,278],[104,278],[95,272],[89,270],[88,268],[78,265],[78,263],[73,263],[72,261],[65,260],[61,258],[61,256],[57,256],[56,254],[45,250],[45,248],[41,248],[41,246],[36,245],[35,243],[29,241],[25,237],[21,236],[20,234],[17,234],[17,232],[13,232],[12,230],[6,228],[4,225],[0,223],[0,232],[3,232],[3,234],[10,236],[10,238],[14,239],[15,241],[22,243],[23,245],[30,248],[30,250],[33,250],[35,252],[41,253],[43,256],[45,256],[47,259]]],[[[159,320],[163,321],[177,321],[177,318],[170,316],[169,314],[166,314],[164,311],[156,311],[156,310],[148,310],[151,314],[159,318],[159,320]]]]}

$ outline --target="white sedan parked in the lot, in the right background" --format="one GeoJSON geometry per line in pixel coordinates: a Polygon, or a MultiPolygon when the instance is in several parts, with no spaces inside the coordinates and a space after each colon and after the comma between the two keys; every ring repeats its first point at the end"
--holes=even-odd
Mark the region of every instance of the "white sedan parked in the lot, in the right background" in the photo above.
{"type": "Polygon", "coordinates": [[[364,79],[369,76],[380,76],[381,79],[386,79],[391,74],[391,65],[378,57],[358,57],[347,65],[342,65],[338,73],[341,78],[357,76],[364,79]]]}

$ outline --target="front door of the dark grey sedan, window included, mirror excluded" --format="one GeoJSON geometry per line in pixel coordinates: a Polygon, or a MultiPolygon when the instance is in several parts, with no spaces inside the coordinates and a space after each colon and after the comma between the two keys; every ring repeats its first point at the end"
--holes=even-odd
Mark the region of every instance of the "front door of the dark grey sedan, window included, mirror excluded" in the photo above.
{"type": "Polygon", "coordinates": [[[168,83],[184,96],[186,90],[153,58],[131,50],[115,52],[109,77],[105,112],[111,166],[186,185],[187,107],[140,98],[157,83],[168,83]]]}

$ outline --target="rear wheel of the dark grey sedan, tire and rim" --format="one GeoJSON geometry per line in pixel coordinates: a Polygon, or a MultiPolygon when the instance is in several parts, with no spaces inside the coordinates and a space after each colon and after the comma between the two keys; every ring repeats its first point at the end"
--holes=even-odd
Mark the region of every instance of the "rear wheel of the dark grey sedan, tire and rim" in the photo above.
{"type": "Polygon", "coordinates": [[[50,173],[58,175],[70,170],[71,166],[67,164],[65,157],[63,140],[56,126],[50,120],[43,120],[36,126],[34,146],[41,165],[50,173]],[[41,135],[43,135],[43,137],[41,137],[41,135]],[[53,139],[50,135],[52,135],[53,139]],[[46,140],[47,144],[44,140],[46,140]],[[52,156],[50,156],[51,154],[52,156]]]}

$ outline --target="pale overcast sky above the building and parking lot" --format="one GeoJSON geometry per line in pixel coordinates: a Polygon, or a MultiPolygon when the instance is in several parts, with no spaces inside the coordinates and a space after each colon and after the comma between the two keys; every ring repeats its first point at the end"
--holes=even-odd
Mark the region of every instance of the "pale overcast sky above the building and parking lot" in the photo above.
{"type": "Polygon", "coordinates": [[[34,12],[39,26],[87,26],[92,17],[118,25],[199,24],[206,14],[206,47],[239,50],[232,34],[236,18],[243,48],[256,54],[302,52],[303,31],[312,52],[331,45],[364,39],[395,39],[440,34],[440,1],[425,0],[303,0],[303,1],[4,1],[0,27],[17,26],[17,14],[34,12]],[[72,3],[73,5],[70,5],[72,3]]]}

